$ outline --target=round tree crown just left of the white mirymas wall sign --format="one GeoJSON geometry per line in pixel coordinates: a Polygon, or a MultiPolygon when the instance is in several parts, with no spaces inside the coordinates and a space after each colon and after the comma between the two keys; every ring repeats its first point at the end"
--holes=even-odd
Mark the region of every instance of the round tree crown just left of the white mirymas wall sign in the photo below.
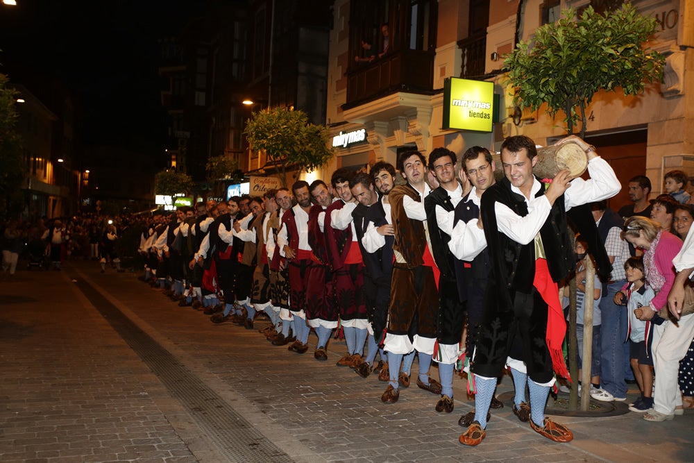
{"type": "Polygon", "coordinates": [[[332,158],[328,129],[310,124],[303,111],[273,108],[253,112],[244,130],[251,149],[264,150],[282,184],[287,169],[312,171],[332,158]]]}

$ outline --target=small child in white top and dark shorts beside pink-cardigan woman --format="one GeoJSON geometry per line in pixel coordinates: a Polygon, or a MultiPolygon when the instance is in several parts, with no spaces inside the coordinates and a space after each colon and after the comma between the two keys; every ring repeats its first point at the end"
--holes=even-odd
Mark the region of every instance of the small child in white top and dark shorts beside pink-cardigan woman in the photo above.
{"type": "Polygon", "coordinates": [[[624,269],[627,284],[614,295],[614,303],[626,305],[629,310],[629,361],[632,364],[638,389],[641,389],[641,397],[629,405],[629,410],[645,413],[653,407],[653,357],[650,355],[650,343],[652,323],[655,323],[656,317],[659,317],[656,314],[650,323],[638,319],[641,308],[648,306],[655,296],[653,290],[645,284],[643,259],[640,257],[627,259],[624,262],[624,269]],[[648,340],[646,340],[647,330],[648,340]]]}

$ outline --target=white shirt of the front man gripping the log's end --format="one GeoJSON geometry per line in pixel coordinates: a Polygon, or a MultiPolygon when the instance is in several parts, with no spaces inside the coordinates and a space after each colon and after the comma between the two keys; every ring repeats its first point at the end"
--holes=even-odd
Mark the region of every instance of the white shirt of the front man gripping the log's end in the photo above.
{"type": "MultiPolygon", "coordinates": [[[[564,193],[566,210],[570,210],[575,205],[611,198],[621,189],[622,185],[617,180],[614,171],[607,161],[600,156],[588,162],[588,171],[591,176],[589,180],[574,178],[571,181],[571,186],[564,193]]],[[[543,183],[533,177],[530,199],[527,199],[521,190],[511,185],[511,191],[521,194],[525,198],[528,214],[521,217],[516,215],[516,212],[513,212],[507,205],[495,203],[496,224],[501,233],[519,244],[528,244],[535,238],[535,235],[545,224],[552,208],[550,201],[544,194],[535,197],[535,194],[543,187],[543,183]]]]}

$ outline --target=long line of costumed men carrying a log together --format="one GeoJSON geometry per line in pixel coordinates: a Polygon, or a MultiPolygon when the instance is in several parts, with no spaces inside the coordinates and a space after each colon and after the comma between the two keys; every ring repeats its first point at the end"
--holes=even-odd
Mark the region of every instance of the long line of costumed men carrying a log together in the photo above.
{"type": "MultiPolygon", "coordinates": [[[[570,441],[566,426],[544,416],[555,372],[568,378],[557,288],[575,267],[566,214],[575,208],[579,231],[597,237],[590,208],[577,206],[614,196],[620,184],[593,146],[575,136],[558,143],[566,142],[586,152],[589,180],[560,171],[542,183],[532,173],[534,142],[516,136],[502,144],[501,180],[489,150],[468,149],[456,175],[455,153],[439,148],[428,162],[418,151],[400,154],[405,185],[396,185],[392,165],[378,162],[369,174],[339,169],[330,186],[297,181],[294,205],[286,188],[249,199],[251,212],[239,219],[227,209],[233,201],[218,204],[216,218],[200,216],[190,226],[200,242],[191,267],[216,262],[224,294],[212,321],[232,316],[252,328],[264,310],[272,321],[266,338],[298,354],[308,351],[313,328],[320,361],[341,326],[348,352],[337,364],[364,378],[378,372],[388,382],[384,403],[409,387],[416,354],[416,385],[438,397],[437,412],[454,408],[452,378],[465,352],[475,410],[459,421],[467,428],[462,444],[486,436],[490,407],[502,406],[494,392],[505,367],[518,419],[548,439],[570,441]],[[439,381],[430,376],[432,361],[439,381]]],[[[210,289],[202,280],[204,296],[210,289]]]]}

